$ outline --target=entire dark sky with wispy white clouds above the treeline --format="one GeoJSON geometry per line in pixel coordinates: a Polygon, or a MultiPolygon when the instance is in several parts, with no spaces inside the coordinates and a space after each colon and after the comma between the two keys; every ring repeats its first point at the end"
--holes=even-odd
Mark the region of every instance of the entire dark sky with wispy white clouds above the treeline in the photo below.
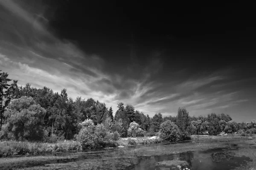
{"type": "Polygon", "coordinates": [[[149,116],[256,119],[253,4],[0,0],[0,70],[149,116]]]}

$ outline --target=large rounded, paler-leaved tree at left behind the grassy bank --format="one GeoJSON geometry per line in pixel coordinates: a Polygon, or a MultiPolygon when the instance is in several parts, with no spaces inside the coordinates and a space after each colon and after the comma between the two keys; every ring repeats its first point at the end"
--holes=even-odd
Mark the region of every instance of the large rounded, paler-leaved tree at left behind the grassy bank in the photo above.
{"type": "Polygon", "coordinates": [[[5,111],[7,133],[12,133],[16,140],[41,140],[45,113],[32,97],[13,99],[5,111]]]}

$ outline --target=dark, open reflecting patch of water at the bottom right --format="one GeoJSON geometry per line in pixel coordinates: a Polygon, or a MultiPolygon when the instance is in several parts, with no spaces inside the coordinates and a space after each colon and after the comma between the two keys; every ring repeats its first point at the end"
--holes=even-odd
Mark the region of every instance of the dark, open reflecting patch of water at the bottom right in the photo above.
{"type": "MultiPolygon", "coordinates": [[[[232,170],[234,167],[240,167],[243,164],[246,164],[247,161],[250,161],[248,157],[236,157],[233,156],[232,153],[226,152],[217,152],[217,153],[179,153],[175,155],[166,155],[166,156],[154,156],[151,159],[141,159],[139,164],[137,164],[134,168],[135,170],[160,170],[160,169],[177,169],[176,165],[165,165],[165,161],[168,163],[169,160],[182,160],[186,161],[187,164],[182,165],[183,168],[189,168],[190,170],[232,170]],[[156,162],[160,162],[164,165],[162,166],[154,166],[153,164],[156,162]]],[[[177,162],[178,163],[178,162],[177,162]]]]}

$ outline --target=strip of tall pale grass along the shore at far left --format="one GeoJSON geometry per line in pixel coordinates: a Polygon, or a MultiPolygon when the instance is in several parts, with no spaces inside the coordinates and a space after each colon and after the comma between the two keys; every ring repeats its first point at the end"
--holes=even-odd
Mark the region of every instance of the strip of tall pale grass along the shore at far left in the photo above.
{"type": "Polygon", "coordinates": [[[80,149],[80,144],[74,141],[57,142],[55,144],[5,141],[0,142],[0,157],[30,154],[38,155],[41,153],[67,152],[80,149]]]}

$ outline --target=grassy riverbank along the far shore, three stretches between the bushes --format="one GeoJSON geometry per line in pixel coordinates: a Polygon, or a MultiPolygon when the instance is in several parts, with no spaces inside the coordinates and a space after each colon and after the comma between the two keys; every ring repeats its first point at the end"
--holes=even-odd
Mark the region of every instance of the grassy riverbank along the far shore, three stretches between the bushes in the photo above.
{"type": "MultiPolygon", "coordinates": [[[[218,140],[226,141],[229,139],[251,139],[251,142],[256,142],[256,135],[252,137],[244,137],[238,134],[229,134],[226,136],[208,136],[208,135],[192,135],[193,141],[200,140],[218,140]]],[[[136,138],[120,138],[115,143],[116,147],[125,147],[130,145],[144,145],[144,144],[157,144],[163,141],[159,136],[152,137],[136,137],[136,138]]],[[[81,145],[79,142],[70,141],[58,141],[55,144],[40,143],[40,142],[16,142],[16,141],[4,141],[0,142],[0,157],[17,156],[17,155],[42,155],[44,153],[61,153],[69,151],[81,151],[81,145]]]]}

